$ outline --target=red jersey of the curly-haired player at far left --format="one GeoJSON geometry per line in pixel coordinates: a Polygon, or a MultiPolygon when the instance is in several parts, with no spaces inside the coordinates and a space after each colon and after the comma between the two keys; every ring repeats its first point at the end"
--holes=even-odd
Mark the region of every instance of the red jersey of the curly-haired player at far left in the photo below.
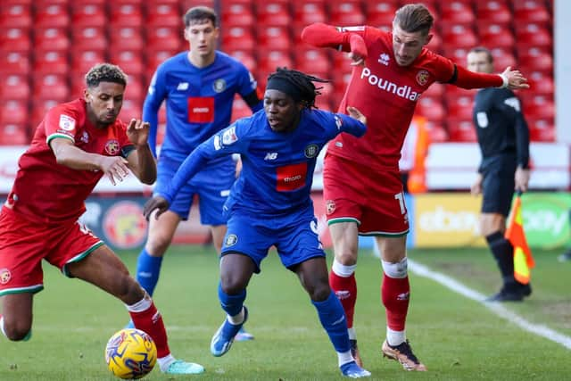
{"type": "Polygon", "coordinates": [[[59,104],[38,125],[29,149],[18,162],[18,172],[6,203],[13,211],[40,223],[76,220],[85,211],[85,200],[103,176],[99,170],[72,170],[58,164],[49,142],[62,137],[87,153],[127,157],[134,148],[126,127],[116,120],[95,128],[86,115],[83,99],[59,104]]]}

